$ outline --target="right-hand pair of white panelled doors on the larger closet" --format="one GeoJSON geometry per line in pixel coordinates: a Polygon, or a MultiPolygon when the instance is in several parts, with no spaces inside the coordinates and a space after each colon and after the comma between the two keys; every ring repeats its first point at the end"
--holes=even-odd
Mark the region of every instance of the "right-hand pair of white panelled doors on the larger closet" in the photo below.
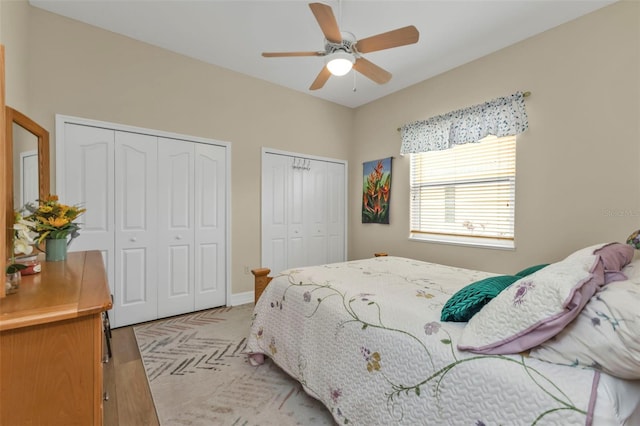
{"type": "Polygon", "coordinates": [[[225,304],[225,148],[158,138],[158,316],[225,304]]]}

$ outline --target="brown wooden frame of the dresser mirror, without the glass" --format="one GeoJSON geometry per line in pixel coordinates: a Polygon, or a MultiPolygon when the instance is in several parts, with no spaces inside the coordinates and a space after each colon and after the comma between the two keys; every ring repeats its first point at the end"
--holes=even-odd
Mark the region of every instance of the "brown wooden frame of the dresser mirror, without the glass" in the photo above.
{"type": "MultiPolygon", "coordinates": [[[[24,115],[18,110],[5,106],[6,125],[6,229],[13,228],[14,211],[13,205],[13,124],[17,124],[38,139],[38,197],[46,198],[50,194],[50,169],[49,169],[49,132],[38,123],[24,115]]],[[[22,206],[20,206],[22,207],[22,206]]],[[[7,250],[12,250],[13,233],[7,232],[7,250]]],[[[10,251],[7,251],[10,254],[10,251]]]]}

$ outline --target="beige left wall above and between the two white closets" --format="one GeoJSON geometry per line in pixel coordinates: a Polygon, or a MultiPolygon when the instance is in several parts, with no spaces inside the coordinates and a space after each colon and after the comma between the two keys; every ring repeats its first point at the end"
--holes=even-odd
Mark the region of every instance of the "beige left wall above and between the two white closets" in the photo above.
{"type": "MultiPolygon", "coordinates": [[[[55,114],[231,144],[232,292],[253,291],[253,276],[245,267],[261,266],[261,148],[347,159],[354,112],[26,2],[14,7],[20,13],[26,10],[28,17],[25,113],[49,129],[53,144],[55,114]]],[[[3,8],[3,19],[11,19],[4,15],[12,10],[3,8]]],[[[7,44],[7,51],[15,46],[11,40],[7,44]]],[[[7,75],[8,87],[17,80],[7,75]]],[[[53,146],[51,161],[55,166],[53,146]]],[[[52,171],[55,189],[54,178],[52,171]]]]}

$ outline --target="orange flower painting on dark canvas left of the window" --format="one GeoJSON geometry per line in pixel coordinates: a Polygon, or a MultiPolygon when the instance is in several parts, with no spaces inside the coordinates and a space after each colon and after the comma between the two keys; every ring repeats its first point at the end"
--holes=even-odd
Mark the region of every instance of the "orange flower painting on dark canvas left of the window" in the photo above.
{"type": "Polygon", "coordinates": [[[362,223],[389,223],[391,158],[363,164],[362,223]]]}

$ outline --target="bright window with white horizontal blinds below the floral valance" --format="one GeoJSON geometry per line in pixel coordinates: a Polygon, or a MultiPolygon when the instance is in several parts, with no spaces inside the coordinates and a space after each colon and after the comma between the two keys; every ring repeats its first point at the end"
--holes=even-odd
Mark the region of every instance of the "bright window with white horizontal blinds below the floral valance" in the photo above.
{"type": "MultiPolygon", "coordinates": [[[[434,151],[426,153],[410,154],[410,183],[409,183],[409,212],[410,212],[410,233],[409,239],[415,241],[435,242],[444,244],[455,244],[464,246],[478,246],[496,249],[515,249],[515,136],[506,136],[503,138],[497,138],[495,136],[488,136],[479,143],[471,143],[465,145],[459,145],[446,151],[434,151]],[[483,145],[482,142],[491,141],[493,143],[493,154],[487,153],[490,149],[489,145],[483,145]],[[509,144],[509,149],[500,149],[499,156],[504,155],[506,160],[506,166],[495,166],[493,161],[487,161],[487,163],[475,163],[471,168],[454,167],[455,156],[460,158],[460,153],[465,150],[466,153],[474,153],[473,155],[487,156],[487,159],[492,158],[495,155],[495,148],[499,147],[500,143],[509,144]],[[456,151],[458,149],[458,151],[456,151]],[[475,151],[474,151],[475,150],[475,151]],[[441,167],[443,162],[447,164],[447,167],[441,167]],[[431,163],[431,164],[430,164],[431,163]],[[436,163],[440,166],[438,168],[439,173],[431,173],[430,176],[418,174],[418,170],[435,170],[436,163]],[[470,172],[472,170],[472,172],[470,172]],[[476,175],[475,171],[480,170],[482,173],[476,175]],[[487,171],[488,170],[488,171],[487,171]],[[506,194],[507,203],[501,203],[501,206],[493,206],[495,208],[494,217],[501,216],[502,220],[497,221],[495,225],[489,226],[495,234],[486,235],[486,232],[476,231],[473,226],[467,223],[471,228],[463,225],[463,222],[470,222],[473,224],[473,220],[465,221],[465,217],[469,213],[469,210],[464,214],[456,214],[455,202],[451,202],[451,195],[447,195],[447,191],[451,191],[451,188],[464,188],[473,184],[483,183],[496,183],[498,182],[502,187],[502,195],[506,194]],[[506,186],[506,188],[504,188],[506,186]],[[422,193],[426,196],[424,189],[433,188],[436,193],[439,193],[440,197],[444,198],[444,202],[449,204],[448,208],[443,206],[442,208],[436,208],[434,215],[429,215],[429,210],[425,214],[425,202],[418,202],[414,197],[420,196],[422,193]],[[422,189],[422,191],[421,191],[422,189]],[[506,191],[505,191],[506,189],[506,191]],[[449,200],[449,201],[447,201],[449,200]],[[439,219],[436,219],[439,216],[439,219]],[[461,216],[461,217],[458,217],[461,216]],[[454,219],[451,219],[451,218],[454,219]],[[439,222],[439,223],[438,223],[439,222]],[[460,231],[456,231],[459,229],[460,231]],[[500,235],[498,235],[500,233],[500,235]]],[[[505,145],[506,146],[506,145],[505,145]]],[[[467,154],[468,155],[468,154],[467,154]]],[[[460,160],[458,160],[460,161],[460,160]]],[[[504,162],[503,162],[504,164],[504,162]]],[[[454,189],[455,191],[455,189],[454,189]]],[[[455,197],[460,195],[454,195],[455,197]]],[[[505,200],[505,198],[500,198],[505,200]]],[[[433,204],[432,204],[433,205],[433,204]]],[[[460,208],[459,210],[464,210],[460,208]]],[[[472,213],[471,213],[472,214],[472,213]]],[[[469,219],[475,219],[471,216],[469,219]]],[[[478,222],[478,220],[476,220],[478,222]]],[[[481,229],[478,227],[478,229],[481,229]]]]}

